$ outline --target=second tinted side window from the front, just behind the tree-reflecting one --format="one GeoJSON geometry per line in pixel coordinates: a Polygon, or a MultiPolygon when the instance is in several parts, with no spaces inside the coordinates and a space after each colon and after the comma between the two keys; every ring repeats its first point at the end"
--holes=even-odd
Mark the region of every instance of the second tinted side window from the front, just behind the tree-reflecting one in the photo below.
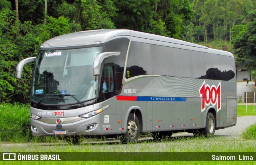
{"type": "Polygon", "coordinates": [[[172,76],[171,52],[166,46],[150,45],[153,74],[172,76]]]}

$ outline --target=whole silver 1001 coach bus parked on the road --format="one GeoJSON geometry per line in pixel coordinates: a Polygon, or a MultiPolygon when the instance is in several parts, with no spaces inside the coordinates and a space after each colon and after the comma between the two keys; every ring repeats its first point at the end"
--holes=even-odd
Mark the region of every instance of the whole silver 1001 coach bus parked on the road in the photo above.
{"type": "Polygon", "coordinates": [[[185,131],[214,135],[236,124],[230,52],[132,30],[90,30],[52,38],[34,62],[32,135],[118,135],[134,142],[185,131]]]}

